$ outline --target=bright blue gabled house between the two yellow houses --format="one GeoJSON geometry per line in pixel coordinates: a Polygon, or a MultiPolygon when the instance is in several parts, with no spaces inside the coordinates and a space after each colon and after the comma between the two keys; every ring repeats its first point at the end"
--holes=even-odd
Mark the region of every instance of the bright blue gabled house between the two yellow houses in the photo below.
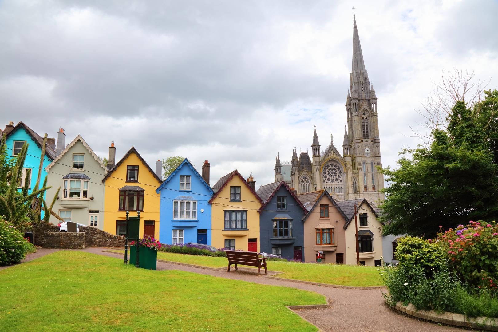
{"type": "Polygon", "coordinates": [[[165,244],[204,243],[211,245],[209,163],[201,176],[185,158],[156,189],[161,195],[159,238],[165,244]]]}

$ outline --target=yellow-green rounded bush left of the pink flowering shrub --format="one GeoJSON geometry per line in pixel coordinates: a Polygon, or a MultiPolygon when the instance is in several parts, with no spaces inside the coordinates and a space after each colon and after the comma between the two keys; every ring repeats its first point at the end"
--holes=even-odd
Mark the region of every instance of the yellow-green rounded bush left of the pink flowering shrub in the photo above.
{"type": "Polygon", "coordinates": [[[448,258],[438,243],[422,237],[405,236],[398,240],[395,257],[406,270],[421,269],[430,277],[435,271],[446,270],[448,258]]]}

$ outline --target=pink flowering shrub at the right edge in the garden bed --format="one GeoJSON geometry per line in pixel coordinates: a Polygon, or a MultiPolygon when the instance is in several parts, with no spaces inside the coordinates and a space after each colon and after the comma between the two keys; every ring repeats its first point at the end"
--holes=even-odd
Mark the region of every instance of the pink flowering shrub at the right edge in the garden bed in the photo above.
{"type": "Polygon", "coordinates": [[[450,269],[468,288],[497,292],[498,225],[470,221],[437,235],[438,244],[448,255],[450,269]]]}

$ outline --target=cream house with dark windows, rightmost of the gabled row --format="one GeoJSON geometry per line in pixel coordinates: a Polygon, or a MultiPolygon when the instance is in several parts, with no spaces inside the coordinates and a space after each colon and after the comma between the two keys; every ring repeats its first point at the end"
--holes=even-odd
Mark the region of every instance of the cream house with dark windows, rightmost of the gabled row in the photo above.
{"type": "Polygon", "coordinates": [[[358,242],[360,263],[367,266],[380,266],[382,257],[382,224],[377,221],[377,214],[366,199],[338,201],[340,209],[346,216],[344,225],[346,236],[345,264],[356,264],[356,227],[358,224],[358,242]],[[357,207],[355,214],[355,206],[357,207]],[[356,220],[355,220],[356,216],[356,220]]]}

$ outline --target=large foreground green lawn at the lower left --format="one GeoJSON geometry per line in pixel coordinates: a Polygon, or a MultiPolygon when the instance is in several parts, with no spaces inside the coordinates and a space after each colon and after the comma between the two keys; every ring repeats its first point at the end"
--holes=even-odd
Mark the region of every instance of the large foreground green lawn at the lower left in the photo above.
{"type": "Polygon", "coordinates": [[[325,303],[294,288],[137,269],[81,251],[2,270],[0,284],[0,331],[315,332],[284,306],[325,303]]]}

